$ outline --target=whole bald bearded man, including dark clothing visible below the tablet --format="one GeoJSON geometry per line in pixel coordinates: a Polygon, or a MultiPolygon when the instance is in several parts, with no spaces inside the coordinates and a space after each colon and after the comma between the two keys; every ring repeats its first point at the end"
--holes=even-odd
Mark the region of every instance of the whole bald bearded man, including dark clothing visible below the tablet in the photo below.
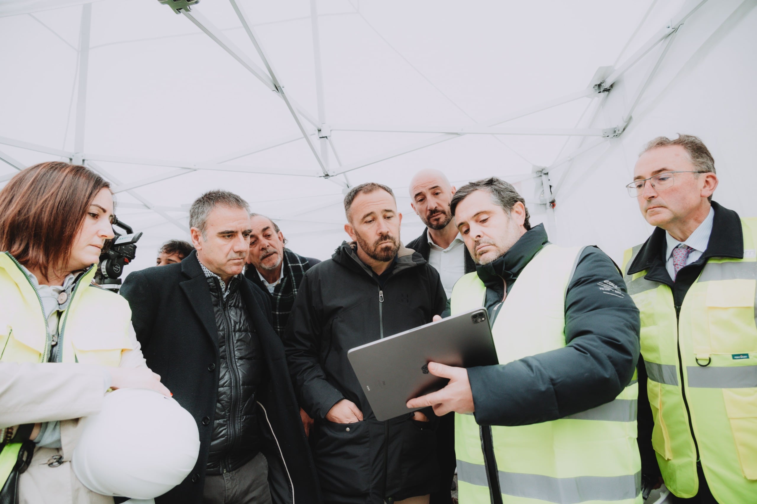
{"type": "MultiPolygon", "coordinates": [[[[423,256],[439,272],[441,284],[447,297],[457,280],[475,271],[463,238],[457,232],[455,218],[450,210],[450,201],[455,187],[439,170],[420,170],[410,181],[410,206],[426,225],[423,233],[407,244],[423,256]]],[[[436,431],[439,447],[442,488],[431,494],[431,504],[450,504],[452,496],[447,490],[452,486],[455,472],[455,418],[441,417],[436,431]]]]}

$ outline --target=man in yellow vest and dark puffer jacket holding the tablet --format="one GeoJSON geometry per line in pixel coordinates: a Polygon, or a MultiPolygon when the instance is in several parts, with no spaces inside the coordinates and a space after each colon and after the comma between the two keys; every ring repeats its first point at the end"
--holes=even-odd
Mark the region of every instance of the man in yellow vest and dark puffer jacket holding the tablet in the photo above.
{"type": "Polygon", "coordinates": [[[459,501],[641,502],[636,444],[639,311],[596,247],[557,247],[500,179],[451,209],[478,265],[453,315],[485,306],[500,364],[428,364],[450,378],[410,408],[454,411],[459,501]]]}

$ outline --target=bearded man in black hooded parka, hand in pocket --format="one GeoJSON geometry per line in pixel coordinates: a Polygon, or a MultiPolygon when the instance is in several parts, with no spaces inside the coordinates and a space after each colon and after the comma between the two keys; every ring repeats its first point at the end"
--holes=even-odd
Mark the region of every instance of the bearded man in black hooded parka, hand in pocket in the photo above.
{"type": "Polygon", "coordinates": [[[344,213],[353,241],[305,273],[284,335],[300,406],[315,420],[310,446],[323,500],[428,504],[440,487],[438,419],[429,408],[432,418],[376,420],[347,351],[431,322],[447,303],[444,287],[421,254],[400,244],[390,188],[352,188],[344,213]]]}

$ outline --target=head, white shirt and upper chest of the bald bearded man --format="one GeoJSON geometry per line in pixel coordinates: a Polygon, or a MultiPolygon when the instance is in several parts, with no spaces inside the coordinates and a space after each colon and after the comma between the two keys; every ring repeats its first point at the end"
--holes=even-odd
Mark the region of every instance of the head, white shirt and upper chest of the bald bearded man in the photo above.
{"type": "Polygon", "coordinates": [[[410,181],[410,206],[426,229],[407,244],[439,272],[447,297],[458,278],[475,271],[475,263],[460,238],[450,201],[455,188],[439,170],[421,170],[410,181]]]}

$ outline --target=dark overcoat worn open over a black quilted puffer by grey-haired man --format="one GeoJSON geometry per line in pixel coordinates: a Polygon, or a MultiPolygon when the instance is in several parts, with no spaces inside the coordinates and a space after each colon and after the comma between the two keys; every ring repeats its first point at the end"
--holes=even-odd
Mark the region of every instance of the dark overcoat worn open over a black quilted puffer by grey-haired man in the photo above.
{"type": "MultiPolygon", "coordinates": [[[[157,504],[200,504],[213,431],[220,368],[218,329],[210,286],[196,254],[192,252],[181,263],[132,272],[121,288],[132,308],[132,323],[148,366],[160,375],[173,398],[192,413],[200,431],[195,468],[182,484],[155,499],[157,504]]],[[[290,478],[298,504],[321,502],[284,347],[270,325],[268,297],[243,276],[239,288],[269,373],[258,412],[273,502],[292,502],[290,478]]]]}

